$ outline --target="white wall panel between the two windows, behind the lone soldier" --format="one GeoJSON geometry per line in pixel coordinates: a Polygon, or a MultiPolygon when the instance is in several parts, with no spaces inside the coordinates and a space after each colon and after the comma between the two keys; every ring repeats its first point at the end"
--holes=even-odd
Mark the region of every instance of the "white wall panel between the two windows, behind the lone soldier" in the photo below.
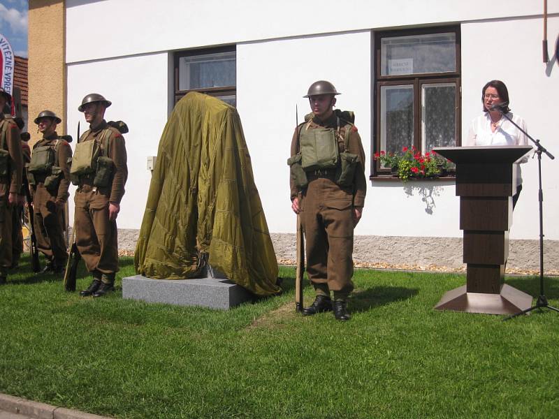
{"type": "Polygon", "coordinates": [[[237,108],[270,231],[292,232],[295,225],[287,159],[296,106],[303,122],[312,82],[332,80],[343,93],[337,108],[356,113],[370,155],[370,43],[365,31],[237,45],[237,108]]]}

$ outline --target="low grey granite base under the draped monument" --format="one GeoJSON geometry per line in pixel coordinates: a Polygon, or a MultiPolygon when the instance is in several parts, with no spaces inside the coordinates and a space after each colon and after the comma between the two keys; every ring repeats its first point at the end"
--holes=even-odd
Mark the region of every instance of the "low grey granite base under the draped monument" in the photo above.
{"type": "Polygon", "coordinates": [[[224,278],[152,279],[143,275],[122,279],[122,297],[222,310],[252,300],[245,288],[224,278]]]}

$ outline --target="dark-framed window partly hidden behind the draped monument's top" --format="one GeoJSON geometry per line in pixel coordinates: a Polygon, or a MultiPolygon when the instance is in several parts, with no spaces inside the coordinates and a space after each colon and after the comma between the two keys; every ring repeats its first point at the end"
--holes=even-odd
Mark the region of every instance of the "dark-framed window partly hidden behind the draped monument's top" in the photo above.
{"type": "Polygon", "coordinates": [[[175,53],[175,103],[189,91],[237,104],[235,46],[175,53]]]}

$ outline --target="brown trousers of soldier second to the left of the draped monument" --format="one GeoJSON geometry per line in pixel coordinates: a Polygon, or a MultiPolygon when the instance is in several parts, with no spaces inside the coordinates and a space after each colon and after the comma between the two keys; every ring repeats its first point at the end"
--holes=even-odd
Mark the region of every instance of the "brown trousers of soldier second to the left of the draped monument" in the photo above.
{"type": "Polygon", "coordinates": [[[37,185],[33,195],[33,211],[37,249],[57,265],[66,265],[68,252],[62,226],[64,207],[57,207],[55,197],[42,183],[37,185]]]}

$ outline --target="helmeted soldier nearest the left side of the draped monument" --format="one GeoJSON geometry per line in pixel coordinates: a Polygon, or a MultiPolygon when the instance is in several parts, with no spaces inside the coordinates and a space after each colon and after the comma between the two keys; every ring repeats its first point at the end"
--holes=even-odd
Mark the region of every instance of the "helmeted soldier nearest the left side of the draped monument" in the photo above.
{"type": "Polygon", "coordinates": [[[114,290],[118,271],[116,220],[128,168],[122,134],[103,119],[110,105],[106,98],[93,93],[85,96],[78,108],[89,122],[89,130],[78,140],[71,168],[73,182],[78,186],[74,198],[75,242],[87,270],[93,274],[89,287],[80,291],[82,297],[101,297],[114,290]],[[99,156],[93,159],[94,168],[80,163],[84,161],[82,150],[86,149],[99,156]]]}

